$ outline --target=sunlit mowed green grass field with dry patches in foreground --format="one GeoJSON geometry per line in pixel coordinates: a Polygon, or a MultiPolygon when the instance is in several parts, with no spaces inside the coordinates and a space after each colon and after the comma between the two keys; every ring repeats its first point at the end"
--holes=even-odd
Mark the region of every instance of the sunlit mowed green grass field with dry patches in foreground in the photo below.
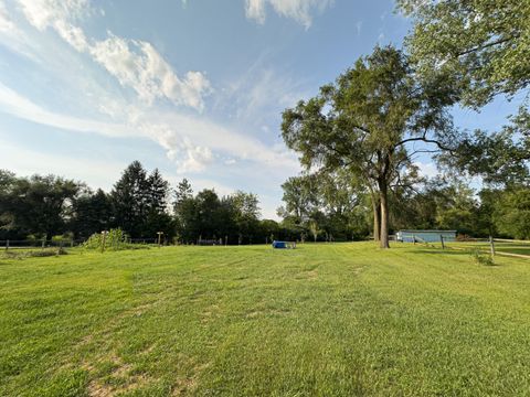
{"type": "Polygon", "coordinates": [[[2,396],[530,395],[530,261],[372,243],[0,260],[2,396]]]}

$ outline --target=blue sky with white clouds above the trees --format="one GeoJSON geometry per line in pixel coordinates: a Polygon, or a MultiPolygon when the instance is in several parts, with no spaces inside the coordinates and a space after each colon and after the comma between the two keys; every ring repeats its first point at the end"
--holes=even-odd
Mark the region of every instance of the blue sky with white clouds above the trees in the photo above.
{"type": "MultiPolygon", "coordinates": [[[[256,193],[275,218],[299,172],[282,110],[409,29],[392,0],[0,0],[0,168],[109,191],[140,160],[173,185],[256,193]]],[[[495,129],[512,111],[455,118],[495,129]]]]}

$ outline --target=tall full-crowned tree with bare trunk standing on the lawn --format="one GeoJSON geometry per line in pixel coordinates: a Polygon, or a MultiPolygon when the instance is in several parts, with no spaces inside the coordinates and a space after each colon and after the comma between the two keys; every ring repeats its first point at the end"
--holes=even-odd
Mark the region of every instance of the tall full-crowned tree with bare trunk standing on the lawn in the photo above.
{"type": "Polygon", "coordinates": [[[347,168],[363,181],[381,208],[380,246],[388,248],[389,190],[413,168],[411,155],[454,141],[452,94],[436,81],[421,84],[401,51],[375,47],[319,95],[285,110],[282,132],[307,169],[347,168]]]}

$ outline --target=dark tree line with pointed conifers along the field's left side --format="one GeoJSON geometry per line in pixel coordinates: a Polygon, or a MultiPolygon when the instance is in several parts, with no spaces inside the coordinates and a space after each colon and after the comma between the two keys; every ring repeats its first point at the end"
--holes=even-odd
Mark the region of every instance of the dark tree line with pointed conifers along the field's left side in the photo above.
{"type": "Polygon", "coordinates": [[[274,238],[296,239],[292,230],[261,219],[255,194],[237,191],[219,196],[197,194],[188,180],[171,189],[158,170],[148,173],[134,161],[109,193],[56,175],[17,176],[0,170],[0,239],[87,239],[95,233],[121,228],[130,238],[169,243],[256,244],[274,238]]]}

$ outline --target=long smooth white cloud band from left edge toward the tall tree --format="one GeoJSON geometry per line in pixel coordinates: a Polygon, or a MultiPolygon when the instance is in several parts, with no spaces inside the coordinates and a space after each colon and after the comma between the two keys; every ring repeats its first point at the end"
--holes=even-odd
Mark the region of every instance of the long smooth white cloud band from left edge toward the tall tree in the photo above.
{"type": "Polygon", "coordinates": [[[22,119],[71,131],[109,137],[144,137],[166,149],[179,172],[198,172],[214,161],[212,150],[273,168],[297,170],[293,155],[268,148],[245,135],[218,124],[176,112],[156,112],[115,104],[117,122],[76,118],[44,109],[0,83],[0,109],[22,119]]]}

